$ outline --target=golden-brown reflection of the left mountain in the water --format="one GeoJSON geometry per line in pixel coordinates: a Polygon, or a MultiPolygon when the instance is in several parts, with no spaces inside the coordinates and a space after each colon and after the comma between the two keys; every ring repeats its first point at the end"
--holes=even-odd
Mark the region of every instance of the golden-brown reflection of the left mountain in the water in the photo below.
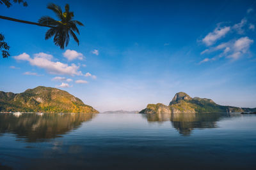
{"type": "Polygon", "coordinates": [[[0,114],[0,134],[11,132],[28,142],[45,141],[61,137],[72,129],[77,129],[83,122],[92,120],[96,114],[64,113],[44,114],[23,113],[15,117],[10,113],[0,114]]]}

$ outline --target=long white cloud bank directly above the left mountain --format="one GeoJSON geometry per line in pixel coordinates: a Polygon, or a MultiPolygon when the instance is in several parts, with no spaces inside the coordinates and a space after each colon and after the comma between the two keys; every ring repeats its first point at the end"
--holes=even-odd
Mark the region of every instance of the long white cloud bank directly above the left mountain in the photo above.
{"type": "Polygon", "coordinates": [[[16,60],[27,60],[31,66],[43,68],[50,74],[83,75],[81,71],[78,71],[79,66],[76,66],[76,64],[68,66],[68,64],[62,62],[53,62],[50,59],[52,58],[51,55],[46,53],[36,53],[33,59],[27,53],[22,53],[14,58],[16,60]]]}

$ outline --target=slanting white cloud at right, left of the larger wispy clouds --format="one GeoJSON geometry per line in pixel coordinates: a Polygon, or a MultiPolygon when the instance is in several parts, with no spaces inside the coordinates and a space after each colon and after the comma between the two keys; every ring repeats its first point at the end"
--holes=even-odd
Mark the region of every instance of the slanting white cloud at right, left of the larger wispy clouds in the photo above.
{"type": "Polygon", "coordinates": [[[210,32],[205,36],[202,41],[207,45],[210,46],[214,44],[218,39],[223,38],[228,32],[230,31],[230,27],[216,27],[213,32],[210,32]]]}

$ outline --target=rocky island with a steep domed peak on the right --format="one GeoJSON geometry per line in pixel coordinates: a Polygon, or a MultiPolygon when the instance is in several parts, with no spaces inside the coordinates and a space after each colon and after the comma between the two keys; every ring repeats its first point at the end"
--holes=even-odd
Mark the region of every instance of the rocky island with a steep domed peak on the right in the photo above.
{"type": "Polygon", "coordinates": [[[211,99],[190,97],[184,92],[175,94],[168,106],[157,103],[148,104],[140,113],[199,113],[199,112],[253,112],[256,108],[237,108],[234,106],[221,106],[211,99]]]}

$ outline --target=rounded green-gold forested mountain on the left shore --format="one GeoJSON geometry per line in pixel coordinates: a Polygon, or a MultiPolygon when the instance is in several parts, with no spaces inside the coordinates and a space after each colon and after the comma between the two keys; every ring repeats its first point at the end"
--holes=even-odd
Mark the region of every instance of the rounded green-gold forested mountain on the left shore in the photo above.
{"type": "Polygon", "coordinates": [[[66,91],[43,86],[20,94],[0,91],[0,111],[99,113],[66,91]]]}

